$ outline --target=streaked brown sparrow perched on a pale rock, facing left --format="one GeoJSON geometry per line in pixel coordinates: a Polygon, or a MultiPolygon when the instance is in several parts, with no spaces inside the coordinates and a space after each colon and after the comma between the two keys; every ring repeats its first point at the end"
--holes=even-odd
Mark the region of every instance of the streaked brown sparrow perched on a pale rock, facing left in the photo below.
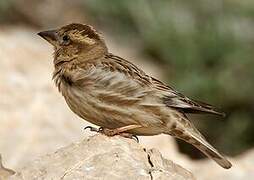
{"type": "Polygon", "coordinates": [[[91,25],[71,23],[38,35],[54,47],[52,79],[67,105],[101,127],[100,132],[124,137],[171,135],[221,167],[232,166],[187,117],[192,113],[224,116],[217,108],[188,98],[110,53],[102,34],[91,25]]]}

